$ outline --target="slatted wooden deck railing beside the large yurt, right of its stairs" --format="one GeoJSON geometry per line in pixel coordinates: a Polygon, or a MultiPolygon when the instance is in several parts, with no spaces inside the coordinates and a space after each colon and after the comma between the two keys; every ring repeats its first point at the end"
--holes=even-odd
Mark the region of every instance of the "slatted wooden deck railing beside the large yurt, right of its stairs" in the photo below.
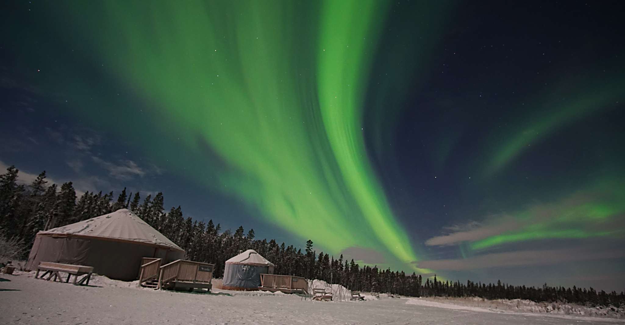
{"type": "Polygon", "coordinates": [[[178,259],[159,267],[158,288],[170,281],[211,283],[214,264],[178,259]]]}

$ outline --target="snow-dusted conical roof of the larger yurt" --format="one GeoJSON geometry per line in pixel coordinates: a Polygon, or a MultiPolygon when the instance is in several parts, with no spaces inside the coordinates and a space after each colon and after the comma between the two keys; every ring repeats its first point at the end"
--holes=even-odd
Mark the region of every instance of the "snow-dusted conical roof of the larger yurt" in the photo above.
{"type": "Polygon", "coordinates": [[[104,214],[67,226],[39,231],[37,235],[53,237],[97,237],[111,241],[128,241],[183,251],[161,232],[141,220],[129,209],[104,214]]]}

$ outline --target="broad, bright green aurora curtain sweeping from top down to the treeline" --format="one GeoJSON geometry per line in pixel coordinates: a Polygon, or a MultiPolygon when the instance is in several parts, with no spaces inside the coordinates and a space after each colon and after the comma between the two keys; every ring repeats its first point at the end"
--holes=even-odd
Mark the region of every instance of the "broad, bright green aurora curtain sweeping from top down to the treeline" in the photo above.
{"type": "MultiPolygon", "coordinates": [[[[270,224],[333,254],[374,249],[391,266],[430,272],[409,264],[419,256],[364,144],[364,95],[386,10],[379,1],[51,8],[68,21],[63,40],[94,56],[84,64],[98,63],[98,74],[144,110],[82,80],[59,93],[81,119],[120,134],[139,128],[134,142],[168,170],[241,197],[270,224]],[[126,106],[122,121],[110,116],[118,106],[126,106]],[[155,134],[158,144],[148,140],[155,134]],[[172,161],[166,148],[184,154],[172,161]]],[[[61,70],[49,72],[48,85],[61,70]]]]}

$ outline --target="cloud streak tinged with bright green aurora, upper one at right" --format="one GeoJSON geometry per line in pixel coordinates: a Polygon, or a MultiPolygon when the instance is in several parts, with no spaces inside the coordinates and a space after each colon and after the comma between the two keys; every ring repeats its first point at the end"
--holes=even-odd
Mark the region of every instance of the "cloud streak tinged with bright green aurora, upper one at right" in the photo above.
{"type": "Polygon", "coordinates": [[[556,202],[536,203],[511,214],[489,216],[442,229],[427,246],[468,242],[484,249],[510,242],[540,239],[614,237],[625,233],[625,191],[614,180],[600,181],[556,202]]]}

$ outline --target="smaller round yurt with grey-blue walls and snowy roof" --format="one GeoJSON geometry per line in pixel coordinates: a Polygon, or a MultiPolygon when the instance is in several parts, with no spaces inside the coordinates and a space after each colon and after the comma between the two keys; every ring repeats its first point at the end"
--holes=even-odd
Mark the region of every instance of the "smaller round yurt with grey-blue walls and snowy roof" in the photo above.
{"type": "Polygon", "coordinates": [[[254,249],[232,257],[226,261],[222,289],[254,290],[261,286],[259,274],[273,274],[275,265],[267,261],[254,249]]]}

